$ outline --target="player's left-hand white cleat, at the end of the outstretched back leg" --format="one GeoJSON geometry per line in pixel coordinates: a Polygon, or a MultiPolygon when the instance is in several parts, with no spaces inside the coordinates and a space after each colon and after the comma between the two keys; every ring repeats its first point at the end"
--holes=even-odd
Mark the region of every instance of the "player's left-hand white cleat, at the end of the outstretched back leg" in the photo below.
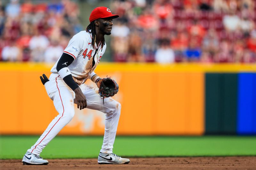
{"type": "Polygon", "coordinates": [[[49,164],[48,160],[44,160],[39,155],[36,155],[31,152],[26,152],[22,159],[23,165],[47,165],[49,164]]]}

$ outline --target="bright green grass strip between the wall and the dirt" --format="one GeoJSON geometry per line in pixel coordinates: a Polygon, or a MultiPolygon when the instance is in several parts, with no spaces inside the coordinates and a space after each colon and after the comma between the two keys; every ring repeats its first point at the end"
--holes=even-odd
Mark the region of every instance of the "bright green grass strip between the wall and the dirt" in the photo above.
{"type": "MultiPolygon", "coordinates": [[[[39,136],[0,136],[0,159],[22,159],[39,136]]],[[[103,137],[57,136],[40,156],[96,158],[103,137]]],[[[114,153],[128,157],[256,155],[256,137],[116,137],[114,153]]]]}

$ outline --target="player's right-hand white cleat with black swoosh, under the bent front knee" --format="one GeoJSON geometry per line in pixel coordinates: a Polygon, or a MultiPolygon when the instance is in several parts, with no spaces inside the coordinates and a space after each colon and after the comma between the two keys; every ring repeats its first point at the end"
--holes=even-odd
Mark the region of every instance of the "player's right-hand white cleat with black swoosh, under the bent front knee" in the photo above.
{"type": "Polygon", "coordinates": [[[130,159],[121,158],[114,153],[101,153],[98,156],[99,164],[129,164],[130,159]]]}

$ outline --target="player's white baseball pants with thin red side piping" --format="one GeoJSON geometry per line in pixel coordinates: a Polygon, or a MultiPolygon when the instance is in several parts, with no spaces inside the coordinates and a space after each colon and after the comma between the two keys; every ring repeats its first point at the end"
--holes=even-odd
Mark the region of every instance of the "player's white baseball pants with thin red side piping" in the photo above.
{"type": "MultiPolygon", "coordinates": [[[[75,114],[75,92],[59,77],[59,74],[52,73],[49,80],[50,81],[46,82],[44,86],[48,96],[53,100],[53,104],[59,115],[52,120],[36,143],[28,149],[28,152],[37,155],[39,155],[44,147],[71,121],[75,114]]],[[[121,113],[121,105],[110,97],[104,99],[103,105],[97,88],[86,84],[79,85],[79,87],[86,97],[86,108],[99,110],[106,114],[105,133],[100,152],[112,153],[121,113]]]]}

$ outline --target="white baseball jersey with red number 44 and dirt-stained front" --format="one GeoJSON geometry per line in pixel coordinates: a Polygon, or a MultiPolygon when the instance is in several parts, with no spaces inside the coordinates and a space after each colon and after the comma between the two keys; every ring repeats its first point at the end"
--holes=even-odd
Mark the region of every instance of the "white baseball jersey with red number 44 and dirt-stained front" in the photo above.
{"type": "MultiPolygon", "coordinates": [[[[100,58],[104,54],[106,47],[107,45],[105,43],[103,48],[101,48],[100,44],[98,50],[93,49],[92,34],[86,31],[77,33],[69,41],[64,53],[71,55],[75,59],[68,66],[68,69],[77,84],[83,84],[89,78],[89,75],[95,70],[100,62],[100,58]]],[[[51,72],[58,72],[56,67],[59,60],[60,58],[52,67],[51,72]]],[[[66,63],[63,64],[65,65],[66,63]]]]}

